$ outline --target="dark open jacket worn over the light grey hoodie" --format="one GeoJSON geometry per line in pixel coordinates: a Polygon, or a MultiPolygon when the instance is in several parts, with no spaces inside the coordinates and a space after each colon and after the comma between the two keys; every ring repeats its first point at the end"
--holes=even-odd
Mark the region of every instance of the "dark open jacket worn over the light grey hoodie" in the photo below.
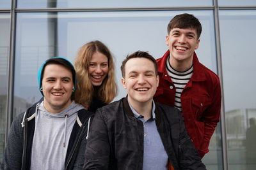
{"type": "MultiPolygon", "coordinates": [[[[31,163],[31,146],[35,132],[35,118],[28,120],[35,113],[36,104],[26,111],[24,127],[22,120],[24,113],[21,113],[13,120],[8,141],[4,150],[4,159],[1,169],[29,169],[31,163]]],[[[75,167],[83,166],[84,149],[86,145],[86,136],[88,121],[92,121],[93,113],[87,110],[79,110],[77,113],[81,126],[76,121],[70,139],[68,142],[67,155],[65,160],[65,169],[76,169],[75,167]]],[[[89,124],[88,124],[89,123],[89,124]]],[[[45,151],[46,152],[46,151],[45,151]]]]}

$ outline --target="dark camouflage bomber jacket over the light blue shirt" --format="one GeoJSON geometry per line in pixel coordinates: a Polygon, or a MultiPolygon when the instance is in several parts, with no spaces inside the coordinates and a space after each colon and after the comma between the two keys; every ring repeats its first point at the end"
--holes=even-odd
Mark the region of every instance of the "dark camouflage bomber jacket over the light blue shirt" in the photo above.
{"type": "MultiPolygon", "coordinates": [[[[156,103],[156,125],[175,169],[205,169],[179,110],[156,103]]],[[[143,123],[127,98],[99,108],[93,118],[83,169],[143,169],[143,123]]]]}

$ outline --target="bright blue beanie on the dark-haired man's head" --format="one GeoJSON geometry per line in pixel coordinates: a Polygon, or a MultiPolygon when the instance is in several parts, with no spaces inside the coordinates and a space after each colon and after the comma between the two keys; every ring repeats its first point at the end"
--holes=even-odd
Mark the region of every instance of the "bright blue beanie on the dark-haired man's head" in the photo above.
{"type": "MultiPolygon", "coordinates": [[[[52,57],[51,59],[48,59],[46,60],[42,66],[39,68],[38,70],[38,74],[37,74],[37,80],[38,80],[38,87],[39,87],[39,90],[40,88],[42,87],[42,71],[44,70],[44,67],[45,67],[45,64],[47,64],[48,62],[51,62],[51,61],[54,61],[56,59],[62,59],[62,60],[65,60],[67,61],[68,64],[70,64],[70,66],[72,66],[72,76],[73,76],[73,82],[74,82],[74,89],[76,89],[76,71],[75,71],[75,68],[73,66],[73,64],[68,60],[68,59],[65,59],[63,57],[52,57]]],[[[44,96],[43,92],[40,90],[42,96],[44,96]]]]}

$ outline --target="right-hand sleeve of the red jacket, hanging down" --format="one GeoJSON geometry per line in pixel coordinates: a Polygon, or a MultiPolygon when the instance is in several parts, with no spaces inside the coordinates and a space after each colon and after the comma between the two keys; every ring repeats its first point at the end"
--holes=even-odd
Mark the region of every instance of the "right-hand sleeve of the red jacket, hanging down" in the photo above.
{"type": "Polygon", "coordinates": [[[213,91],[212,104],[202,114],[201,121],[204,122],[204,141],[202,142],[198,152],[200,157],[204,157],[205,153],[209,152],[208,146],[215,127],[220,121],[220,109],[221,109],[221,88],[220,80],[215,82],[215,88],[213,91]]]}

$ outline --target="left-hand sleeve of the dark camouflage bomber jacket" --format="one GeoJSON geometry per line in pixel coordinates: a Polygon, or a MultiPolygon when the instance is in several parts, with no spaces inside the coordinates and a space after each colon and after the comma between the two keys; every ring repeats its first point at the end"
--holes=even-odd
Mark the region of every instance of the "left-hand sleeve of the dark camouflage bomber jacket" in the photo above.
{"type": "Polygon", "coordinates": [[[83,169],[108,169],[110,144],[108,127],[102,116],[102,110],[95,113],[85,150],[83,169]]]}

